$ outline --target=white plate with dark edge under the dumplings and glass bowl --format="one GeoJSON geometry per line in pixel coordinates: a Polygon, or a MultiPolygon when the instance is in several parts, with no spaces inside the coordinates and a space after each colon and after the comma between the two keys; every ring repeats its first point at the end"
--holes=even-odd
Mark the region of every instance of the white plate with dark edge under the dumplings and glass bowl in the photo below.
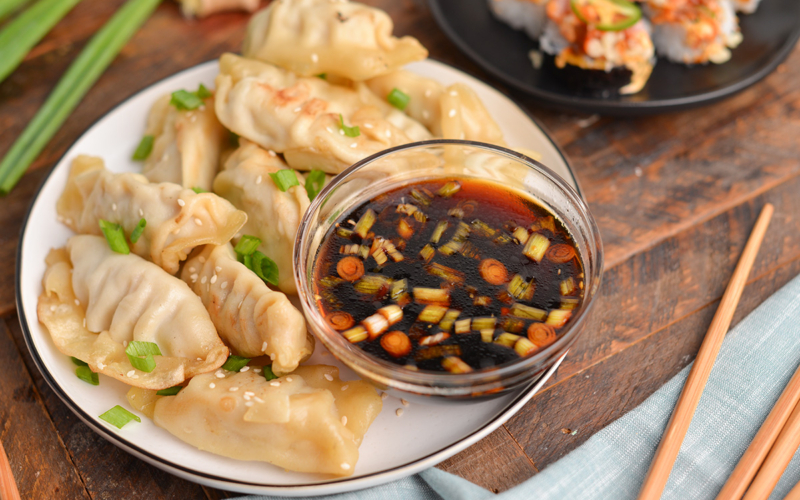
{"type": "MultiPolygon", "coordinates": [[[[435,61],[415,63],[408,69],[444,84],[469,84],[500,124],[510,145],[539,151],[542,163],[577,188],[558,148],[507,97],[435,61]]],[[[78,139],[34,199],[17,257],[17,305],[25,341],[45,380],[81,420],[120,448],[185,479],[244,493],[321,495],[375,486],[431,467],[497,429],[533,396],[561,360],[535,386],[482,403],[468,406],[412,403],[404,408],[396,398],[387,398],[383,412],[361,445],[354,474],[345,479],[287,472],[262,462],[243,462],[202,452],[156,427],[146,417],[142,417],[142,423],[132,423],[121,430],[97,417],[116,404],[129,407],[125,399],[127,386],[109,377],[101,377],[96,387],[79,380],[70,359],[56,350],[47,331],[36,321],[45,256],[50,248],[63,246],[72,235],[56,221],[56,200],[66,183],[70,163],[78,154],[101,156],[113,171],[138,171],[140,164],[130,157],[143,135],[151,104],[176,89],[197,88],[201,82],[211,87],[217,72],[216,61],[201,64],[152,85],[122,103],[78,139]],[[404,409],[400,417],[395,414],[398,408],[404,409]]],[[[343,378],[355,378],[326,354],[318,348],[312,362],[335,364],[343,378]]]]}

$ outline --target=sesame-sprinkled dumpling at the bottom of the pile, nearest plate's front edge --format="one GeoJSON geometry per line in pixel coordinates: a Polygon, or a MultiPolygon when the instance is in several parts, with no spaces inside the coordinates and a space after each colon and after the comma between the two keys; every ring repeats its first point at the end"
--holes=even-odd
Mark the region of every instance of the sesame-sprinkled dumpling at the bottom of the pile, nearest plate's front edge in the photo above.
{"type": "Polygon", "coordinates": [[[364,433],[382,407],[374,387],[342,382],[331,366],[301,367],[269,382],[252,369],[217,374],[194,377],[176,396],[131,391],[128,398],[201,450],[336,476],[353,473],[364,433]]]}

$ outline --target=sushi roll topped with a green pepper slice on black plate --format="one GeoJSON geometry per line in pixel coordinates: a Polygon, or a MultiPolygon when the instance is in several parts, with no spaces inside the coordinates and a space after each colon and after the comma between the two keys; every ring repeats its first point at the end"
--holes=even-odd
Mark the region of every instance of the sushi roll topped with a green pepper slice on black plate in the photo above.
{"type": "Polygon", "coordinates": [[[589,91],[639,92],[655,64],[650,25],[626,0],[551,0],[541,50],[567,83],[589,91]]]}

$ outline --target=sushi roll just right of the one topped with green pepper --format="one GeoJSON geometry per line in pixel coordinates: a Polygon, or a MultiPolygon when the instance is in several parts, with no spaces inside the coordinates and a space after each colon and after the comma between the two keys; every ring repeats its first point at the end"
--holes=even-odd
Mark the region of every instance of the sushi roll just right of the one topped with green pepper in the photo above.
{"type": "Polygon", "coordinates": [[[684,64],[722,64],[742,41],[729,0],[648,0],[656,52],[684,64]]]}

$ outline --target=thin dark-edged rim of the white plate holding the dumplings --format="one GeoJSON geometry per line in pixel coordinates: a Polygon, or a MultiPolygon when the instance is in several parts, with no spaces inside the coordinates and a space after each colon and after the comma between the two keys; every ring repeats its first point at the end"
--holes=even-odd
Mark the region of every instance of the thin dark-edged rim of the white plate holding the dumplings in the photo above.
{"type": "MultiPolygon", "coordinates": [[[[97,433],[100,437],[110,442],[114,446],[121,448],[125,452],[136,456],[140,460],[144,460],[150,465],[153,465],[171,474],[177,475],[181,478],[195,481],[200,484],[206,484],[221,489],[227,489],[228,491],[237,491],[242,493],[282,494],[290,496],[297,496],[299,494],[315,494],[315,495],[336,494],[347,491],[357,491],[360,489],[369,488],[380,484],[385,484],[387,482],[417,473],[424,468],[433,466],[439,463],[440,461],[445,460],[448,457],[458,453],[459,451],[462,451],[468,446],[471,446],[472,444],[476,443],[477,441],[479,441],[480,439],[482,439],[483,437],[485,437],[486,435],[488,435],[489,433],[493,432],[501,425],[503,425],[509,418],[511,418],[514,414],[516,414],[519,411],[519,408],[521,408],[525,403],[527,403],[528,400],[530,400],[539,391],[541,386],[544,385],[544,383],[547,382],[550,376],[558,369],[558,367],[560,366],[561,362],[566,357],[568,352],[564,353],[561,357],[559,357],[556,360],[556,362],[550,368],[548,368],[539,379],[532,382],[528,387],[520,389],[517,395],[512,400],[510,400],[502,409],[498,411],[497,416],[487,421],[485,424],[475,429],[474,431],[470,432],[469,434],[465,435],[459,441],[456,441],[455,443],[445,446],[439,450],[428,453],[427,455],[419,457],[413,461],[406,462],[404,464],[400,464],[395,467],[391,467],[381,471],[376,471],[352,478],[329,478],[321,480],[319,482],[308,483],[308,484],[286,485],[286,484],[253,483],[242,480],[230,480],[221,476],[215,476],[213,474],[208,474],[206,472],[197,471],[190,467],[186,467],[181,464],[176,464],[174,462],[168,461],[167,459],[163,459],[160,456],[155,455],[150,451],[140,448],[135,443],[131,443],[130,441],[123,439],[115,432],[113,432],[111,429],[108,429],[102,425],[98,425],[94,421],[93,417],[88,413],[86,413],[83,410],[83,408],[81,408],[78,404],[76,404],[75,401],[73,401],[61,388],[56,378],[53,376],[50,370],[48,370],[47,367],[45,366],[44,361],[41,359],[38,350],[34,346],[32,333],[30,328],[28,327],[29,325],[28,315],[26,315],[25,308],[23,307],[23,300],[22,300],[22,262],[24,259],[23,247],[30,217],[33,213],[33,208],[36,205],[37,201],[39,200],[39,196],[41,195],[42,190],[47,185],[51,176],[54,174],[56,166],[58,166],[68,155],[72,154],[72,149],[75,147],[75,145],[78,142],[80,142],[83,139],[83,137],[87,133],[89,133],[89,131],[91,131],[101,120],[111,115],[112,113],[118,111],[119,108],[126,105],[132,99],[137,98],[138,96],[149,91],[156,85],[162,84],[165,80],[178,77],[184,73],[199,70],[205,66],[212,66],[216,64],[217,61],[218,59],[214,58],[196,64],[194,66],[191,66],[189,68],[177,71],[132,93],[131,95],[129,95],[128,97],[126,97],[125,99],[114,105],[111,109],[103,113],[101,116],[95,119],[88,127],[86,127],[86,129],[84,129],[84,131],[80,134],[80,136],[70,144],[70,146],[64,151],[64,153],[61,156],[59,156],[59,158],[56,161],[53,162],[53,167],[51,167],[50,170],[45,174],[44,178],[39,183],[39,186],[36,188],[36,191],[33,197],[31,198],[30,204],[28,205],[25,211],[24,217],[22,218],[22,226],[19,232],[19,240],[16,249],[14,295],[15,295],[15,304],[17,309],[17,319],[20,324],[23,340],[25,341],[25,345],[28,349],[28,352],[31,355],[34,364],[36,365],[36,368],[39,370],[39,372],[42,375],[42,378],[44,378],[45,382],[47,382],[47,385],[50,387],[50,389],[58,396],[61,402],[63,402],[64,405],[75,416],[77,416],[84,424],[86,424],[92,431],[97,433]]],[[[452,65],[443,63],[434,58],[428,58],[427,61],[455,70],[469,78],[478,80],[484,85],[487,85],[488,87],[492,88],[496,92],[503,95],[503,97],[509,99],[517,107],[517,109],[522,111],[525,114],[525,116],[542,131],[543,135],[555,148],[558,155],[564,161],[567,172],[570,175],[570,179],[568,179],[567,182],[569,182],[574,186],[575,190],[577,191],[578,195],[581,198],[584,198],[584,194],[583,191],[581,190],[578,179],[576,178],[572,165],[570,164],[569,160],[564,154],[564,151],[558,146],[558,144],[556,144],[552,134],[550,134],[550,132],[543,126],[543,124],[540,123],[539,120],[537,120],[533,115],[531,115],[531,113],[526,108],[521,106],[515,99],[500,92],[491,84],[484,82],[479,78],[470,75],[469,73],[463,70],[460,70],[452,65]]]]}

